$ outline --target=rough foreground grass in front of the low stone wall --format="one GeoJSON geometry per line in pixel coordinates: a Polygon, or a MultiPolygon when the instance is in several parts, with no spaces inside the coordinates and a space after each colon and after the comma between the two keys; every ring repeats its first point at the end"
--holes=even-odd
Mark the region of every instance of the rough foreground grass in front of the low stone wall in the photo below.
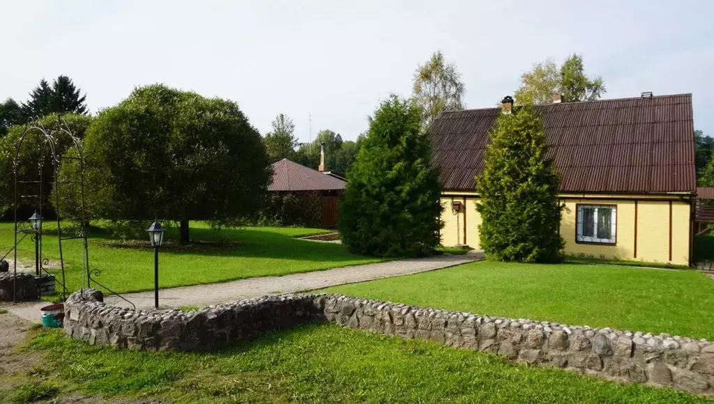
{"type": "Polygon", "coordinates": [[[39,334],[51,377],[84,394],[181,403],[693,403],[671,389],[618,384],[489,353],[308,324],[218,353],[142,353],[39,334]]]}

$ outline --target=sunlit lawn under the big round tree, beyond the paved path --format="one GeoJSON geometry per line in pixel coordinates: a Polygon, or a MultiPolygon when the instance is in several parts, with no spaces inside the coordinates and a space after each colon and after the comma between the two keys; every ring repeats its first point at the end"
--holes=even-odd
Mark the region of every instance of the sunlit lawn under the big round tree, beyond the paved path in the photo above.
{"type": "MultiPolygon", "coordinates": [[[[170,288],[255,276],[279,276],[379,261],[348,253],[339,244],[295,238],[324,232],[315,228],[213,230],[204,223],[191,222],[191,240],[196,241],[191,246],[178,246],[176,229],[167,232],[167,244],[159,255],[159,286],[170,288]]],[[[0,246],[7,251],[13,242],[12,223],[1,223],[0,246]]],[[[154,251],[149,246],[148,237],[146,240],[120,241],[98,229],[93,231],[89,243],[91,268],[101,271],[101,276],[96,277],[99,282],[118,293],[154,288],[154,251]]],[[[44,256],[56,263],[59,258],[56,236],[46,235],[44,246],[44,256]]],[[[70,291],[76,290],[83,275],[80,271],[81,240],[66,241],[62,246],[67,286],[70,291]]],[[[20,244],[19,254],[26,260],[34,260],[34,245],[29,238],[20,244]]]]}

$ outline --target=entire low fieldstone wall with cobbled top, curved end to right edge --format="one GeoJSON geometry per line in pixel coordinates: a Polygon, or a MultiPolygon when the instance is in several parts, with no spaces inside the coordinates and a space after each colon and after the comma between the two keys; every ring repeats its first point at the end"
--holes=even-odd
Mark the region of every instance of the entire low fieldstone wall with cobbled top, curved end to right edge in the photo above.
{"type": "Polygon", "coordinates": [[[72,295],[66,332],[89,343],[144,350],[209,350],[266,330],[327,320],[402,338],[497,353],[610,380],[714,394],[714,345],[667,334],[574,327],[368,301],[338,295],[283,295],[196,312],[134,312],[99,297],[72,295]]]}

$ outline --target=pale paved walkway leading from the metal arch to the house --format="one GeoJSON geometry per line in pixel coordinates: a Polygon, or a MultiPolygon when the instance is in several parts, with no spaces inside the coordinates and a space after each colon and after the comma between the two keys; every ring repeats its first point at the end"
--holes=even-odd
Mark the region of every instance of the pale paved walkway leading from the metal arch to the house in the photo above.
{"type": "MultiPolygon", "coordinates": [[[[224,283],[161,289],[159,291],[159,305],[162,308],[178,308],[183,305],[204,307],[207,305],[237,301],[243,298],[310,291],[328,286],[343,285],[345,283],[371,281],[378,278],[390,278],[392,276],[433,271],[435,269],[477,261],[481,258],[483,258],[483,254],[481,253],[470,253],[464,256],[445,255],[428,258],[412,258],[371,263],[361,266],[347,266],[328,269],[326,271],[293,273],[285,276],[264,276],[261,278],[248,278],[224,283]]],[[[139,310],[151,310],[154,308],[153,291],[127,293],[124,297],[134,303],[139,310]]],[[[131,307],[131,305],[116,296],[107,296],[104,301],[111,305],[131,307]]],[[[9,310],[20,317],[39,322],[39,308],[45,304],[46,303],[22,304],[13,306],[9,308],[9,310]]]]}

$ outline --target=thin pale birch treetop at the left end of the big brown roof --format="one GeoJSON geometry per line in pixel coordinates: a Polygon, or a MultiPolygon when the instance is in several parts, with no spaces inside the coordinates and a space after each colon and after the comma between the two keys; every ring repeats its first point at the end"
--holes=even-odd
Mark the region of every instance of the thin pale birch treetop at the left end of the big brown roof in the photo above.
{"type": "Polygon", "coordinates": [[[413,101],[421,108],[423,127],[441,111],[463,109],[464,92],[456,65],[448,63],[441,51],[432,54],[414,74],[413,101]]]}

